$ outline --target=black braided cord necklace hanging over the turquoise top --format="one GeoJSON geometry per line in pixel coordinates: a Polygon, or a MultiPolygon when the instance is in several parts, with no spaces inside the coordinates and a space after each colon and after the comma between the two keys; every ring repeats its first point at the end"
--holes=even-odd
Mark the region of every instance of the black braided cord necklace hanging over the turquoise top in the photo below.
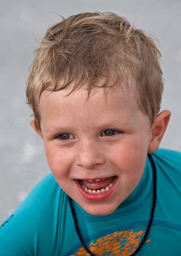
{"type": "MultiPolygon", "coordinates": [[[[150,221],[149,221],[149,224],[148,224],[148,227],[146,229],[146,232],[145,232],[145,235],[140,243],[140,245],[138,246],[138,248],[136,249],[135,252],[133,252],[133,254],[131,254],[130,256],[135,256],[139,250],[142,248],[144,242],[146,241],[147,237],[148,237],[148,234],[149,234],[149,231],[150,231],[150,227],[151,227],[151,224],[152,224],[152,221],[153,221],[153,216],[154,216],[154,209],[155,209],[155,205],[156,205],[156,198],[157,198],[157,170],[156,170],[156,165],[154,163],[154,160],[152,158],[152,155],[150,153],[148,153],[148,158],[151,162],[151,165],[153,167],[153,170],[154,170],[154,189],[153,189],[153,204],[152,204],[152,209],[151,209],[151,217],[150,217],[150,221]]],[[[68,201],[69,201],[69,204],[70,204],[70,209],[71,209],[71,212],[72,212],[72,217],[73,217],[73,221],[74,221],[74,226],[75,226],[75,229],[76,229],[76,233],[77,235],[79,236],[79,239],[80,239],[80,242],[82,243],[83,247],[85,248],[85,250],[91,255],[91,256],[95,256],[95,254],[93,254],[88,248],[87,246],[85,245],[84,241],[83,241],[83,238],[80,234],[80,230],[79,230],[79,227],[77,225],[77,220],[76,220],[76,215],[75,215],[75,210],[73,208],[73,204],[72,204],[72,199],[68,196],[68,201]]]]}

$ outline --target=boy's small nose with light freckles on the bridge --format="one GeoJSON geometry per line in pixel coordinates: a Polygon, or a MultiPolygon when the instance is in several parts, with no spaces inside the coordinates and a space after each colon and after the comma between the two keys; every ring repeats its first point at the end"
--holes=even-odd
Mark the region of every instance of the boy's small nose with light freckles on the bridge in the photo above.
{"type": "Polygon", "coordinates": [[[76,165],[86,169],[93,169],[105,163],[104,150],[96,142],[83,142],[77,150],[76,165]]]}

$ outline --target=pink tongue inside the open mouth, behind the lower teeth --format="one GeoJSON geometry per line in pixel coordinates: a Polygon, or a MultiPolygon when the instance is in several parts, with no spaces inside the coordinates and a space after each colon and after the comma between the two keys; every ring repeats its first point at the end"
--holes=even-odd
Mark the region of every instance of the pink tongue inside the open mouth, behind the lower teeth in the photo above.
{"type": "Polygon", "coordinates": [[[109,184],[113,181],[113,179],[114,179],[114,176],[105,178],[104,180],[99,180],[99,181],[82,180],[82,182],[88,189],[101,190],[109,186],[109,184]]]}

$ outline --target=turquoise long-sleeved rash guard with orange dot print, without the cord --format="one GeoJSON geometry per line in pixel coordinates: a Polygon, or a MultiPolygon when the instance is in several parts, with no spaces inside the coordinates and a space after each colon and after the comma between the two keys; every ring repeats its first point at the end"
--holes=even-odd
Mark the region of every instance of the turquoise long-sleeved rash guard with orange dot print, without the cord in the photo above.
{"type": "MultiPolygon", "coordinates": [[[[157,167],[157,202],[150,233],[137,255],[181,255],[181,153],[159,149],[152,156],[157,167]]],[[[90,251],[99,256],[126,256],[136,250],[149,223],[153,184],[147,158],[140,183],[112,214],[92,216],[72,200],[90,251]]],[[[77,236],[67,195],[52,174],[2,224],[0,255],[88,256],[77,236]]]]}

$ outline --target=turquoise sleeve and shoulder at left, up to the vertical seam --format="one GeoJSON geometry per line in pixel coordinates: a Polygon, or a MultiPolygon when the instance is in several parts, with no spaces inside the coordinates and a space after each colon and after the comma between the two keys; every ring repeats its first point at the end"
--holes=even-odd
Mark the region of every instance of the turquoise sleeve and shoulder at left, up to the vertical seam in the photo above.
{"type": "Polygon", "coordinates": [[[57,223],[60,223],[61,209],[66,209],[66,205],[67,195],[53,175],[48,174],[2,225],[2,255],[34,255],[37,242],[41,247],[38,255],[47,255],[47,252],[56,250],[53,239],[57,232],[57,223]]]}

